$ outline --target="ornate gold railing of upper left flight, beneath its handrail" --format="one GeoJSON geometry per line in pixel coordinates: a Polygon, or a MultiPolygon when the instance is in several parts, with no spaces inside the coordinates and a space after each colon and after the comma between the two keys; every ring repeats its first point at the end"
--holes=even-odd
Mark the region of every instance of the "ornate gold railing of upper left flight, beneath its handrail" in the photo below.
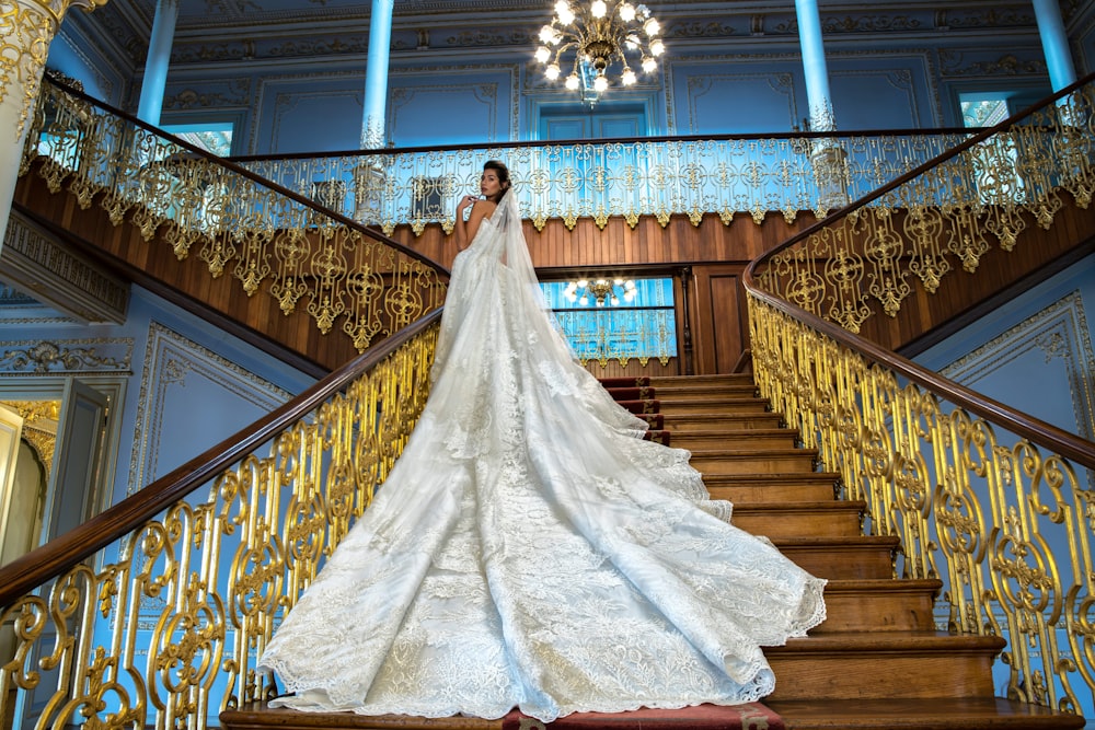
{"type": "Polygon", "coordinates": [[[320,332],[341,329],[358,351],[445,300],[447,270],[312,199],[165,137],[56,82],[43,83],[21,174],[38,161],[54,193],[127,218],[145,241],[195,254],[320,332]]]}

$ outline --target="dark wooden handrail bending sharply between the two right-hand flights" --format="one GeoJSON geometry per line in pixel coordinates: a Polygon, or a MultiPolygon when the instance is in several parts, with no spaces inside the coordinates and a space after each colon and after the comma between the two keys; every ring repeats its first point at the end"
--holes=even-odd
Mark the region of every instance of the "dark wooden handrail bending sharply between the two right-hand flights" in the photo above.
{"type": "Polygon", "coordinates": [[[986,420],[991,421],[998,426],[1001,426],[1008,431],[1015,433],[1019,438],[1027,439],[1030,442],[1046,447],[1052,450],[1054,453],[1064,456],[1077,464],[1082,464],[1087,468],[1095,470],[1095,442],[1083,439],[1074,433],[1069,433],[1068,431],[1048,424],[1041,419],[1035,418],[1019,410],[1015,410],[998,401],[989,398],[976,391],[972,391],[964,385],[960,385],[938,373],[935,373],[927,368],[917,364],[915,362],[901,357],[897,352],[887,350],[879,347],[875,343],[855,335],[848,329],[844,329],[840,325],[832,322],[822,320],[821,317],[808,312],[796,304],[791,303],[787,300],[781,299],[774,294],[771,294],[762,290],[757,283],[756,271],[759,266],[768,262],[773,256],[779,255],[781,252],[789,248],[791,246],[806,240],[807,237],[814,235],[818,231],[828,228],[833,222],[845,218],[852,211],[863,208],[868,202],[880,198],[890,190],[900,187],[912,178],[923,174],[927,170],[953,159],[954,157],[960,154],[963,151],[979,144],[989,137],[1000,132],[1003,129],[1012,126],[1016,121],[1023,119],[1029,114],[1041,107],[1047,106],[1057,102],[1057,100],[1071,94],[1081,86],[1092,83],[1095,81],[1095,73],[1088,74],[1081,79],[1080,81],[1071,84],[1070,86],[1062,89],[1060,92],[1047,97],[1038,104],[1031,105],[1026,109],[1023,109],[1018,114],[1015,114],[1007,119],[1001,121],[1000,124],[988,127],[983,132],[966,140],[958,147],[948,150],[947,152],[929,160],[927,162],[919,165],[914,170],[897,177],[890,183],[883,185],[881,187],[873,190],[871,194],[863,196],[858,200],[851,202],[850,205],[834,211],[828,218],[818,221],[800,231],[796,235],[792,236],[787,241],[783,242],[779,246],[768,251],[766,253],[758,256],[753,260],[749,262],[746,270],[741,277],[742,283],[746,290],[763,300],[769,305],[780,310],[781,312],[789,315],[791,317],[808,324],[810,327],[823,333],[825,335],[831,337],[838,343],[844,345],[845,347],[855,350],[856,352],[863,355],[865,358],[875,362],[877,364],[885,366],[889,368],[897,374],[909,379],[910,381],[922,385],[929,391],[935,393],[936,395],[942,395],[947,401],[954,403],[960,408],[968,413],[976,414],[986,420]]]}

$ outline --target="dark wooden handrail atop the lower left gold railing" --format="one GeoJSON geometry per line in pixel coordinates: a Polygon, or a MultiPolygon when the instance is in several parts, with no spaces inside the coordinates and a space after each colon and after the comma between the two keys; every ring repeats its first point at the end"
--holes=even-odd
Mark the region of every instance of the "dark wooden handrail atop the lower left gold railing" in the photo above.
{"type": "Polygon", "coordinates": [[[7,607],[38,586],[62,575],[183,499],[232,463],[307,416],[355,378],[372,370],[440,316],[441,309],[434,310],[137,494],[3,566],[0,568],[0,607],[7,607]]]}

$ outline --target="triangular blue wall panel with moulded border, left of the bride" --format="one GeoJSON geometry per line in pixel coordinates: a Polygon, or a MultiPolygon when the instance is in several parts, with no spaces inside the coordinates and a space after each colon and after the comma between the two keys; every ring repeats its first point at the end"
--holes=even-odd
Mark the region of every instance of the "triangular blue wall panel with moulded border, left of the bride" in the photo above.
{"type": "Polygon", "coordinates": [[[149,326],[126,496],[291,395],[158,322],[149,326]]]}

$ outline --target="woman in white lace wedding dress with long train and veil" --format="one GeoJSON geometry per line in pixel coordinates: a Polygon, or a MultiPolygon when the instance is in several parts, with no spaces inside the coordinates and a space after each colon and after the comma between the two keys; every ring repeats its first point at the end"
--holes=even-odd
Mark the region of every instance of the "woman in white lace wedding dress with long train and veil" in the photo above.
{"type": "Polygon", "coordinates": [[[272,704],[548,722],[756,700],[760,647],[825,618],[825,581],[573,360],[508,189],[492,161],[458,206],[429,399],[263,653],[292,693],[272,704]]]}

